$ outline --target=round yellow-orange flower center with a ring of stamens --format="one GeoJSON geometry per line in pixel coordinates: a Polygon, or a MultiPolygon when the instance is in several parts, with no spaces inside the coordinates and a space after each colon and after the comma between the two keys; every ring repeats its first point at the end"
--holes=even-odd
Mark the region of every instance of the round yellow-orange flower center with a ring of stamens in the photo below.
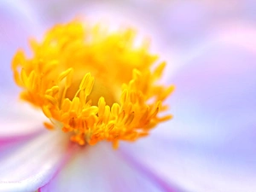
{"type": "Polygon", "coordinates": [[[78,20],[54,26],[43,42],[31,41],[32,57],[17,51],[12,63],[21,99],[42,108],[45,127],[71,134],[80,145],[135,141],[171,115],[159,117],[174,89],[157,84],[165,62],[148,42],[135,46],[131,29],[108,32],[78,20]]]}

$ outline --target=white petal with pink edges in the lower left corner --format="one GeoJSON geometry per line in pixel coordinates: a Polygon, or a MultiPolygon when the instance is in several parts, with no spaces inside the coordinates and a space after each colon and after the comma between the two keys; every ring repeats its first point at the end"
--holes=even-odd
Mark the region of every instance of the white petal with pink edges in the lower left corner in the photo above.
{"type": "Polygon", "coordinates": [[[67,137],[58,131],[45,131],[19,146],[9,146],[13,153],[0,159],[2,191],[35,191],[65,164],[73,154],[67,137]]]}

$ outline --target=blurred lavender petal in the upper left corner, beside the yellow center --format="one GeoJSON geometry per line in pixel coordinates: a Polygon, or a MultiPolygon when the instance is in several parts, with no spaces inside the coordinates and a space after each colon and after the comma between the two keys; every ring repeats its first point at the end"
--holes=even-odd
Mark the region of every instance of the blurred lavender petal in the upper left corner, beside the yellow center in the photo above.
{"type": "Polygon", "coordinates": [[[11,72],[11,61],[17,49],[27,49],[28,38],[38,35],[37,24],[36,16],[26,3],[7,0],[0,2],[1,95],[17,93],[11,72]]]}

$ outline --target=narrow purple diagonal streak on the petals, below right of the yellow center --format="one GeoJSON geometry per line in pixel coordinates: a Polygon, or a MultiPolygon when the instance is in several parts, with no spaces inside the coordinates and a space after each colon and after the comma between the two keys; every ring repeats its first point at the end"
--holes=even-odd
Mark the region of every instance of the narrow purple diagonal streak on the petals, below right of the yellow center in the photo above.
{"type": "Polygon", "coordinates": [[[133,168],[135,168],[138,172],[141,172],[145,177],[148,177],[150,181],[157,184],[163,191],[184,192],[182,189],[178,189],[177,186],[174,186],[171,183],[167,183],[156,172],[152,172],[148,166],[143,166],[142,163],[134,159],[130,154],[126,153],[124,150],[119,150],[117,153],[122,159],[124,159],[128,164],[133,166],[133,168]]]}

